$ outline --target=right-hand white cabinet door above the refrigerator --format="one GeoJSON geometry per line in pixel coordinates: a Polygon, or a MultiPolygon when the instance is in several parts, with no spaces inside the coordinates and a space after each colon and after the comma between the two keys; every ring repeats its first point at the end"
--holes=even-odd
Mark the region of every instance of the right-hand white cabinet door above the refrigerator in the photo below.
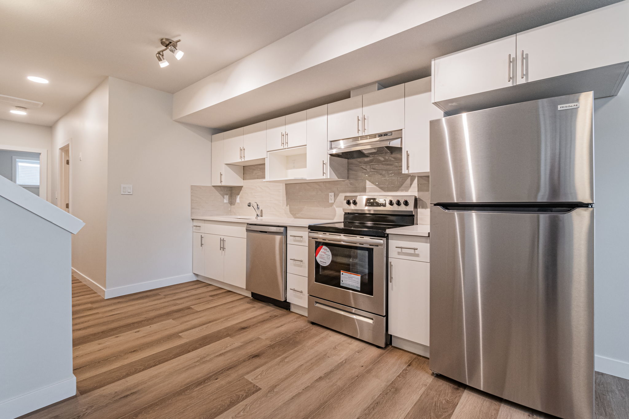
{"type": "Polygon", "coordinates": [[[628,23],[629,3],[623,1],[518,33],[517,82],[626,62],[628,23]]]}

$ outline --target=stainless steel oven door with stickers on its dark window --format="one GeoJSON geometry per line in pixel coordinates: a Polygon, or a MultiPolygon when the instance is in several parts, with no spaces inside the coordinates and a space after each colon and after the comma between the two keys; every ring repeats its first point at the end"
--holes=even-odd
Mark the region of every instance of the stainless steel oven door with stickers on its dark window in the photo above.
{"type": "Polygon", "coordinates": [[[308,294],[386,314],[386,239],[308,234],[308,294]]]}

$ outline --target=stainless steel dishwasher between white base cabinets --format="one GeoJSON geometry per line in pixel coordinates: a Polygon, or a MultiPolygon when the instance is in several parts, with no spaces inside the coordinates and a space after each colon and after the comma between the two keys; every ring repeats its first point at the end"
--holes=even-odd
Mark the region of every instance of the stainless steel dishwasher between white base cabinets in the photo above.
{"type": "Polygon", "coordinates": [[[251,297],[290,308],[286,302],[286,227],[247,224],[247,285],[251,297]]]}

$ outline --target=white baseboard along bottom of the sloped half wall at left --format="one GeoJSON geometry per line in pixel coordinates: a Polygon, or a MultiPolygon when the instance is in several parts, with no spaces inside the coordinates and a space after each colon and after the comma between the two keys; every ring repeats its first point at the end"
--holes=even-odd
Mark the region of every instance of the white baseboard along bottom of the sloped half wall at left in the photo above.
{"type": "Polygon", "coordinates": [[[40,388],[31,393],[0,403],[0,418],[14,419],[33,410],[38,410],[57,401],[67,399],[77,393],[77,379],[72,377],[40,388]]]}

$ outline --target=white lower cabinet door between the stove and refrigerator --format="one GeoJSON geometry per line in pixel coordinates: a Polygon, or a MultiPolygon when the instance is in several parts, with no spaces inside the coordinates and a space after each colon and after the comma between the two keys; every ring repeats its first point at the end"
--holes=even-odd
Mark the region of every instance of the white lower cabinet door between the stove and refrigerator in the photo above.
{"type": "Polygon", "coordinates": [[[430,346],[430,263],[389,258],[389,333],[430,346]]]}

